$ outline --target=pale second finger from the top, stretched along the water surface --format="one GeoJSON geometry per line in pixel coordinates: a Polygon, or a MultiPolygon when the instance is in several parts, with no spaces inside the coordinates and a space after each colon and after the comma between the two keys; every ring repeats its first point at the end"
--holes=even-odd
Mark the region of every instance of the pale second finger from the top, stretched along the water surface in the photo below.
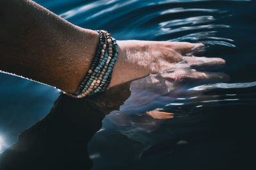
{"type": "Polygon", "coordinates": [[[221,58],[184,57],[183,63],[188,64],[191,68],[207,70],[210,68],[219,68],[225,65],[226,61],[221,58]]]}

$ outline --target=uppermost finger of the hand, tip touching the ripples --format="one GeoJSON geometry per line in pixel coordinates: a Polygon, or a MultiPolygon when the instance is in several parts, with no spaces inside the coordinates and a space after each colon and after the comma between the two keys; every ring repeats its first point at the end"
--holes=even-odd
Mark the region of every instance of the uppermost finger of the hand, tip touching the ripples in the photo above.
{"type": "Polygon", "coordinates": [[[172,48],[183,56],[204,52],[203,43],[175,42],[172,44],[172,48]]]}

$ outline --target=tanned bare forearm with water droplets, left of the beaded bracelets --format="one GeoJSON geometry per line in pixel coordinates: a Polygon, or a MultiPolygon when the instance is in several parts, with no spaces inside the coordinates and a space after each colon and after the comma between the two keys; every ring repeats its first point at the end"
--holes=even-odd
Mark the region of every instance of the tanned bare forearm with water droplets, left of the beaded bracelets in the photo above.
{"type": "Polygon", "coordinates": [[[74,92],[93,59],[99,35],[33,1],[0,2],[0,70],[74,92]]]}

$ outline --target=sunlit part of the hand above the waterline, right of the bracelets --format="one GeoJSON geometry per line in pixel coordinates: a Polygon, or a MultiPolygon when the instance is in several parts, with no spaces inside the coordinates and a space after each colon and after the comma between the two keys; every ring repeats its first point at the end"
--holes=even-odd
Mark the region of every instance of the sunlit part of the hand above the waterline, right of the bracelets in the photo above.
{"type": "Polygon", "coordinates": [[[202,43],[118,41],[118,59],[110,86],[170,70],[184,59],[204,48],[202,43]]]}

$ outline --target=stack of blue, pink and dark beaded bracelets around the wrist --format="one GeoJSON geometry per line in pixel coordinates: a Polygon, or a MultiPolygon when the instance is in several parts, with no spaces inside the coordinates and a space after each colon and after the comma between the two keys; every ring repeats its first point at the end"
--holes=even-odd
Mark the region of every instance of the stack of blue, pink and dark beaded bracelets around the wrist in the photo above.
{"type": "Polygon", "coordinates": [[[113,66],[118,55],[117,43],[115,38],[112,38],[107,31],[96,31],[100,38],[95,57],[77,91],[75,93],[65,93],[70,97],[82,98],[106,91],[111,81],[113,66]]]}

